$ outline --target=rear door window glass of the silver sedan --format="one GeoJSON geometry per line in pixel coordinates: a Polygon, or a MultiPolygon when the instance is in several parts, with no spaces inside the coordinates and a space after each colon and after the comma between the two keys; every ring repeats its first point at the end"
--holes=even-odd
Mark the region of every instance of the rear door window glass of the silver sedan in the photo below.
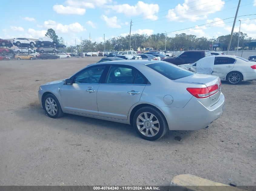
{"type": "Polygon", "coordinates": [[[147,79],[137,69],[128,66],[111,66],[106,84],[146,84],[147,79]]]}

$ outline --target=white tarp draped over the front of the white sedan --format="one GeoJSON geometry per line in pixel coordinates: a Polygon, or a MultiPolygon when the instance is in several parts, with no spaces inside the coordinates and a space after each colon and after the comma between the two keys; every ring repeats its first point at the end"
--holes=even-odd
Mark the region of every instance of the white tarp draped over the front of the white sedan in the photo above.
{"type": "Polygon", "coordinates": [[[212,74],[215,56],[207,56],[196,62],[198,74],[212,74]]]}

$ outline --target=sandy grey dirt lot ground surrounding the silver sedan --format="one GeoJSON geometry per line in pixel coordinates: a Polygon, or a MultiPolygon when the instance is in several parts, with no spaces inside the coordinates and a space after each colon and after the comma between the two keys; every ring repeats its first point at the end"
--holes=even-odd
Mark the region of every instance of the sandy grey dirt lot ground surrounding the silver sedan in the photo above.
{"type": "Polygon", "coordinates": [[[223,82],[225,111],[208,129],[170,131],[155,142],[121,123],[49,118],[39,85],[99,59],[0,62],[0,185],[169,185],[183,173],[256,185],[256,81],[223,82]]]}

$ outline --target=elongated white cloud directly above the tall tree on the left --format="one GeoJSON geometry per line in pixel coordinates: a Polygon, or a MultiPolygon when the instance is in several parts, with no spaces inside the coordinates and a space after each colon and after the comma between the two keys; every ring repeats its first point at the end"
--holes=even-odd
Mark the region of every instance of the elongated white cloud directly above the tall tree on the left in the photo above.
{"type": "Polygon", "coordinates": [[[82,32],[85,31],[86,29],[79,24],[78,22],[68,24],[68,25],[63,25],[61,23],[57,23],[52,20],[48,20],[44,22],[44,26],[46,28],[52,28],[54,29],[57,33],[70,33],[70,32],[82,32]]]}

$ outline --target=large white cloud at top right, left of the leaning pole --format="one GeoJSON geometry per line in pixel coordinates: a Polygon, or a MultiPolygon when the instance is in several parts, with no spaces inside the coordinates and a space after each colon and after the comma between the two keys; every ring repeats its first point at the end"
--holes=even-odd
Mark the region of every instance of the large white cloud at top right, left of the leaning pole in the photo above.
{"type": "Polygon", "coordinates": [[[168,21],[183,22],[182,20],[189,20],[195,22],[197,20],[206,19],[208,14],[220,11],[223,6],[224,1],[222,0],[185,0],[182,5],[178,4],[174,9],[169,9],[166,18],[168,21]]]}

